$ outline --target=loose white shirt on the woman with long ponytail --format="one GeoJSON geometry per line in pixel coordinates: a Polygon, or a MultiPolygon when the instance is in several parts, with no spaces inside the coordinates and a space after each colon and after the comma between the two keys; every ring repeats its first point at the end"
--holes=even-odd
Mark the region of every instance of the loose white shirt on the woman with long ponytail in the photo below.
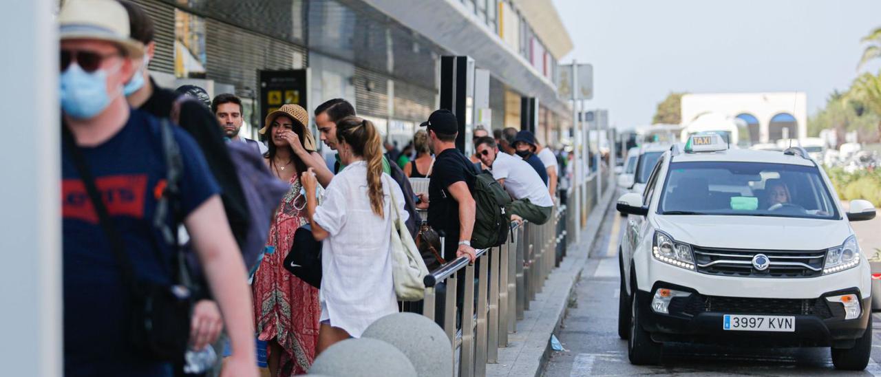
{"type": "Polygon", "coordinates": [[[367,196],[366,162],[346,166],[324,191],[315,222],[329,233],[322,243],[322,321],[360,337],[367,326],[397,313],[392,282],[391,227],[395,218],[390,194],[401,217],[403,193],[389,174],[382,174],[385,200],[376,216],[367,196]]]}

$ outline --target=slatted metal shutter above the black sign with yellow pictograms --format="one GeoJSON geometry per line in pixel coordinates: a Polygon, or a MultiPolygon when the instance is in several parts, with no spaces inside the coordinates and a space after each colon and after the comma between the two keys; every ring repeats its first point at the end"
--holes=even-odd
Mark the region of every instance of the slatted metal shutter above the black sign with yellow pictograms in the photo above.
{"type": "Polygon", "coordinates": [[[206,77],[237,89],[256,88],[257,70],[307,67],[306,48],[206,19],[206,77]],[[295,60],[299,62],[295,63],[295,60]]]}

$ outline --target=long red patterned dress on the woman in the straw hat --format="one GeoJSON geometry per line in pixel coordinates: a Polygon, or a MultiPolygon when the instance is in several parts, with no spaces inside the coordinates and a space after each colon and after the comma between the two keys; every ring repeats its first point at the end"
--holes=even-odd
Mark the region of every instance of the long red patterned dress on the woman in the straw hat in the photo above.
{"type": "Polygon", "coordinates": [[[300,196],[300,179],[294,174],[291,189],[282,198],[270,227],[267,246],[275,248],[264,255],[255,272],[254,317],[260,340],[281,345],[278,375],[306,374],[315,359],[321,307],[318,289],[285,270],[285,256],[291,250],[293,233],[309,220],[306,197],[300,196]]]}

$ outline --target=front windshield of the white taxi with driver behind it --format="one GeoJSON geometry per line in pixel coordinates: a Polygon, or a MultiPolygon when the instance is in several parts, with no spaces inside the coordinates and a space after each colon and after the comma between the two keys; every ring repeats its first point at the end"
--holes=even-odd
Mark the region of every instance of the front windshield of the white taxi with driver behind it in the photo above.
{"type": "Polygon", "coordinates": [[[816,166],[674,162],[658,213],[839,218],[833,203],[816,166]]]}

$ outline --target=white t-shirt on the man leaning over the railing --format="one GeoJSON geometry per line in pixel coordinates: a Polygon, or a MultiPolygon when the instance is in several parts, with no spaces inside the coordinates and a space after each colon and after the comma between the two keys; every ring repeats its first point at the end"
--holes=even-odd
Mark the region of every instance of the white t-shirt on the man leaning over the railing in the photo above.
{"type": "Polygon", "coordinates": [[[529,203],[539,207],[553,207],[553,199],[542,177],[521,158],[504,152],[496,154],[492,162],[492,178],[496,181],[504,179],[505,189],[515,199],[529,199],[529,203]]]}

